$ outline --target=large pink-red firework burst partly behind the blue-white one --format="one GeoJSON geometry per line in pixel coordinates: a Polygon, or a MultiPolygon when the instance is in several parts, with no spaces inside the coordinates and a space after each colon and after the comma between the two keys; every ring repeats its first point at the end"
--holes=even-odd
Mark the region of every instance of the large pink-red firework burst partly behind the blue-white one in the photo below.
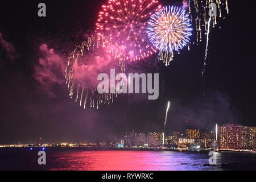
{"type": "Polygon", "coordinates": [[[161,6],[155,0],[109,0],[96,23],[108,52],[121,60],[141,60],[156,52],[147,36],[147,20],[161,6]]]}

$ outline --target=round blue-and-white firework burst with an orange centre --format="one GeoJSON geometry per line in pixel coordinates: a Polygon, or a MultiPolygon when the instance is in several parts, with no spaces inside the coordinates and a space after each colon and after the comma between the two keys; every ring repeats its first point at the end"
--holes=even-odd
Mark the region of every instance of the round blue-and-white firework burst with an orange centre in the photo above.
{"type": "Polygon", "coordinates": [[[192,28],[189,15],[179,7],[166,6],[150,17],[148,36],[154,46],[159,49],[159,59],[166,65],[174,57],[174,51],[179,51],[189,42],[192,28]]]}

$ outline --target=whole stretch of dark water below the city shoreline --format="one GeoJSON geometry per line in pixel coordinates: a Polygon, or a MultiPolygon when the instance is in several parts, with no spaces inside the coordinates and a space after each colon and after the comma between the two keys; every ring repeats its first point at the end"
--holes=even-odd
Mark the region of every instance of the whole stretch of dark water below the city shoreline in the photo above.
{"type": "Polygon", "coordinates": [[[217,165],[209,166],[207,153],[46,148],[47,164],[40,166],[38,151],[38,148],[32,151],[29,148],[0,149],[0,170],[209,171],[226,169],[221,167],[221,163],[241,164],[239,169],[245,165],[256,165],[255,154],[221,153],[218,154],[217,165]]]}

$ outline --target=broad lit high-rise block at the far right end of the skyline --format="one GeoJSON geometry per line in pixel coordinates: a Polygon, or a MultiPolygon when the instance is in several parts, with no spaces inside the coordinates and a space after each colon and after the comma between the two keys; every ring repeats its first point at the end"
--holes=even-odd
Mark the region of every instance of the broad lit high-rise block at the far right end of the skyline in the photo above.
{"type": "Polygon", "coordinates": [[[222,150],[256,147],[256,127],[228,124],[218,127],[218,148],[222,150]]]}

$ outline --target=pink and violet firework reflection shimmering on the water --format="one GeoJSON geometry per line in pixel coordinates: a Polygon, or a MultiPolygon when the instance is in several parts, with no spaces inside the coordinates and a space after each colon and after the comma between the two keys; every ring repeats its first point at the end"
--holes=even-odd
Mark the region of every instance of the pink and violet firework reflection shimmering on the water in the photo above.
{"type": "Polygon", "coordinates": [[[209,164],[207,154],[172,151],[69,151],[52,156],[49,170],[170,171],[220,170],[209,164]],[[53,162],[53,161],[52,161],[53,162]]]}

